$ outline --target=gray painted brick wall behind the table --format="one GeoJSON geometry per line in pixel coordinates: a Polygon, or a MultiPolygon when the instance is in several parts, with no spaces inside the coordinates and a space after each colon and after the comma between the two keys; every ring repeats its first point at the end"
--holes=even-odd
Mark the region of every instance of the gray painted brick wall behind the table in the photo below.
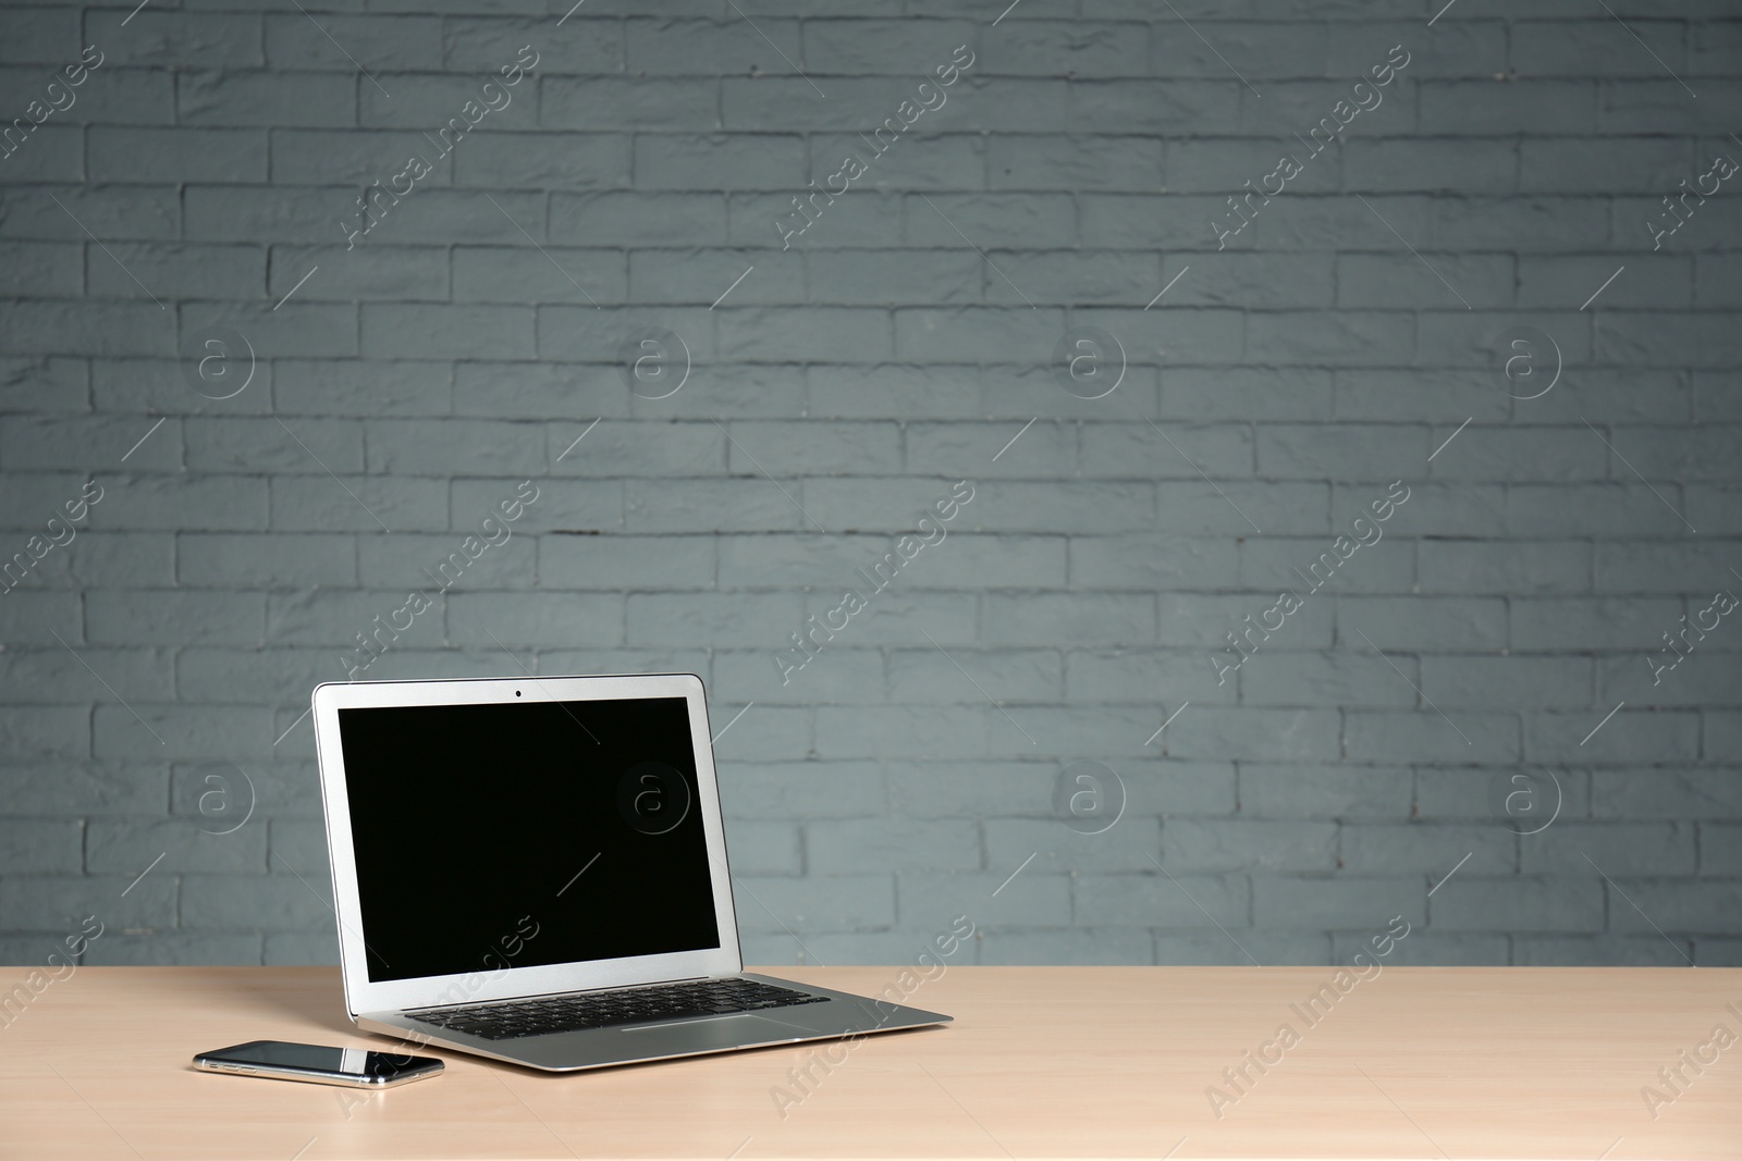
{"type": "Polygon", "coordinates": [[[308,689],[530,479],[361,675],[700,674],[753,963],[1742,963],[1735,16],[9,0],[0,961],[333,961],[308,689]]]}

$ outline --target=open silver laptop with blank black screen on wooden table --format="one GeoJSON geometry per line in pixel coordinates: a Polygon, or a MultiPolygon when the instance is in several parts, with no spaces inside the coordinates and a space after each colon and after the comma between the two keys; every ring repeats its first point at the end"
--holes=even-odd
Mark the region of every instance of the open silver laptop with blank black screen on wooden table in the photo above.
{"type": "Polygon", "coordinates": [[[314,691],[345,1010],[550,1072],[949,1020],[744,971],[702,681],[314,691]]]}

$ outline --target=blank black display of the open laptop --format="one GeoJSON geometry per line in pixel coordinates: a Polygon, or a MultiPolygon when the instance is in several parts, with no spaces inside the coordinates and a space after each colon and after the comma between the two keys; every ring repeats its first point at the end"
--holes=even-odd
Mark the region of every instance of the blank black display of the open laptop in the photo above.
{"type": "Polygon", "coordinates": [[[371,982],[719,947],[685,698],[338,724],[371,982]]]}

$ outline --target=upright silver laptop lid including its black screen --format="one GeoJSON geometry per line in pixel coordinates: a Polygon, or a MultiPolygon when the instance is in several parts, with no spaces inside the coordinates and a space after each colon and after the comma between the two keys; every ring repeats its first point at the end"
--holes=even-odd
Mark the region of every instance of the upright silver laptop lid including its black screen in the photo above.
{"type": "Polygon", "coordinates": [[[333,682],[352,1015],[742,970],[700,677],[333,682]]]}

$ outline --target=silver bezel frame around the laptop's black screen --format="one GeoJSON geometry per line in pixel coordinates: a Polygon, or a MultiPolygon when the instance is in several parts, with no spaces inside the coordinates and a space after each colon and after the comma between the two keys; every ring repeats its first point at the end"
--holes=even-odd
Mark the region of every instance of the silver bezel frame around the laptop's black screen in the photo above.
{"type": "MultiPolygon", "coordinates": [[[[315,686],[312,701],[315,750],[321,761],[321,801],[327,823],[327,856],[333,865],[333,900],[338,916],[345,1008],[354,1020],[362,1013],[397,1013],[453,1003],[470,1004],[517,996],[627,987],[655,980],[719,976],[744,970],[739,950],[737,914],[732,905],[732,872],[726,865],[726,839],[719,820],[714,748],[707,729],[707,696],[702,679],[695,674],[326,682],[315,686]],[[340,742],[338,712],[341,708],[395,705],[526,705],[537,701],[617,701],[627,698],[685,698],[688,703],[697,782],[693,809],[702,815],[719,947],[660,956],[625,956],[587,963],[509,968],[491,973],[462,971],[455,975],[371,982],[362,942],[362,902],[357,889],[357,856],[350,827],[350,795],[345,789],[345,752],[340,742]],[[474,976],[477,976],[476,982],[469,983],[474,976]],[[463,992],[463,999],[456,1001],[451,989],[463,992]]],[[[439,851],[434,855],[439,856],[439,851]]]]}

